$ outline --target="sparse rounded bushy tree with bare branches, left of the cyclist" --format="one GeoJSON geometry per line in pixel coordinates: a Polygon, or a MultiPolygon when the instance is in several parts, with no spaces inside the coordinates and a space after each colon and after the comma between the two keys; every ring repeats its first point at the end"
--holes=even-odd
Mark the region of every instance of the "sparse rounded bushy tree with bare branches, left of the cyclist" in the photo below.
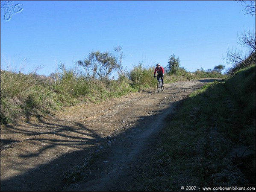
{"type": "Polygon", "coordinates": [[[77,64],[85,69],[87,76],[93,79],[100,78],[101,80],[108,79],[112,71],[119,68],[117,58],[110,52],[92,51],[88,58],[84,61],[78,60],[77,64]]]}

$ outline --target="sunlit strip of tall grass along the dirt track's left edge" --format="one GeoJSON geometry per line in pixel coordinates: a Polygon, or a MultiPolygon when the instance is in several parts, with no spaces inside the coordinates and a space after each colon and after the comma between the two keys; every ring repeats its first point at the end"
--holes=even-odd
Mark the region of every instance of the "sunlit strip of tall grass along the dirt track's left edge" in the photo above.
{"type": "MultiPolygon", "coordinates": [[[[15,123],[23,117],[44,116],[81,103],[98,103],[120,97],[145,87],[156,87],[154,68],[135,66],[127,76],[93,79],[77,68],[65,69],[51,76],[24,74],[22,70],[1,70],[1,124],[15,123]]],[[[195,73],[181,70],[177,76],[165,76],[165,83],[199,78],[224,78],[221,73],[195,73]]]]}

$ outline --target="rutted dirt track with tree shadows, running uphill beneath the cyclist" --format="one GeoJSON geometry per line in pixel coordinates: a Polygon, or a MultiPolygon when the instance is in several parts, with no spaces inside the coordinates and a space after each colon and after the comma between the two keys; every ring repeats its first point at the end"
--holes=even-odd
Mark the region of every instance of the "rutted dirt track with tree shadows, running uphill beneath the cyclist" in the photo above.
{"type": "Polygon", "coordinates": [[[189,93],[212,81],[165,84],[161,93],[141,90],[2,126],[1,191],[120,190],[139,166],[141,152],[168,123],[166,117],[189,93]]]}

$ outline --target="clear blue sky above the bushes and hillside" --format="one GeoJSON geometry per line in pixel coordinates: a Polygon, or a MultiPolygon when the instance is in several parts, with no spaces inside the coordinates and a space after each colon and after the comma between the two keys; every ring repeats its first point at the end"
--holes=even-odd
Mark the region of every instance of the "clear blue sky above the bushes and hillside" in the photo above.
{"type": "MultiPolygon", "coordinates": [[[[236,1],[1,1],[1,69],[50,75],[91,51],[123,47],[128,71],[140,62],[163,67],[171,55],[194,72],[225,64],[228,49],[241,49],[238,35],[255,30],[255,16],[236,1]],[[11,17],[4,17],[9,10],[11,17]],[[23,62],[23,59],[26,60],[23,62]]],[[[247,1],[248,2],[248,1],[247,1]]],[[[153,72],[152,72],[153,74],[153,72]]]]}

